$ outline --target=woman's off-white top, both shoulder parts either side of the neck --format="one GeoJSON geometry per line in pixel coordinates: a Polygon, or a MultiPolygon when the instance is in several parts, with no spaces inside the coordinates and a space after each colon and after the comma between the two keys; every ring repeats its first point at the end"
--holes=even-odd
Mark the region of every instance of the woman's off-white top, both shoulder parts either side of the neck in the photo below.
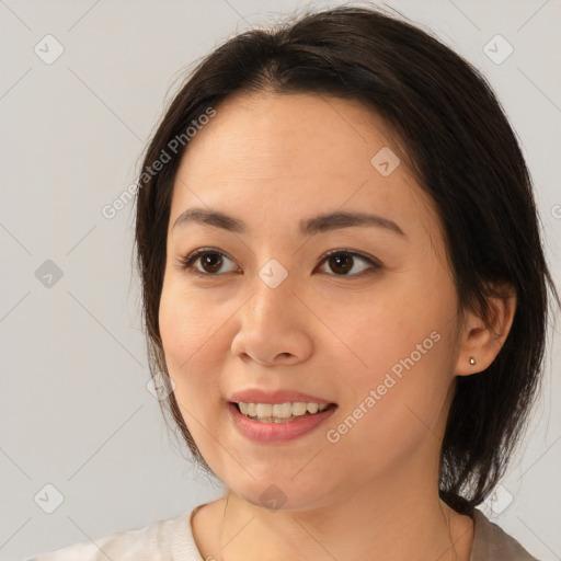
{"type": "MultiPolygon", "coordinates": [[[[116,531],[95,542],[79,541],[24,561],[204,561],[191,530],[191,518],[199,506],[176,518],[116,531]]],[[[538,561],[481,511],[476,508],[472,518],[474,536],[469,561],[538,561]]]]}

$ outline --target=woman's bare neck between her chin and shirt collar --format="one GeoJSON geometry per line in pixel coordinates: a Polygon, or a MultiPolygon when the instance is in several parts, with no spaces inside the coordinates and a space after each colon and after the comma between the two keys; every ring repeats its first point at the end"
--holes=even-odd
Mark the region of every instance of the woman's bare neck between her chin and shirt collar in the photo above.
{"type": "Polygon", "coordinates": [[[291,511],[267,511],[228,491],[199,520],[199,528],[213,530],[197,546],[204,559],[228,561],[468,561],[471,518],[433,488],[416,482],[405,489],[347,489],[331,504],[291,511]]]}

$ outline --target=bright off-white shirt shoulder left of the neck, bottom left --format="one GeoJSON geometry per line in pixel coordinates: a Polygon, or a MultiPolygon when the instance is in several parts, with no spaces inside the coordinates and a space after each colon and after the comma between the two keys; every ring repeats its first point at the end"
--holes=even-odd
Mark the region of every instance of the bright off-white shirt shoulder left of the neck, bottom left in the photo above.
{"type": "Polygon", "coordinates": [[[116,531],[41,553],[24,561],[199,561],[187,511],[176,518],[157,520],[142,528],[116,531]]]}

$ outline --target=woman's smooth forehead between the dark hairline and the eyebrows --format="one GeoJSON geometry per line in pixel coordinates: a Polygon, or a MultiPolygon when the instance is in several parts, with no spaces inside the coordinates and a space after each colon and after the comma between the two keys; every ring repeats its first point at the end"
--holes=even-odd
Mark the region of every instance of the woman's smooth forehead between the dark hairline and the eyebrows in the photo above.
{"type": "Polygon", "coordinates": [[[226,210],[250,226],[287,227],[348,209],[403,222],[413,236],[436,236],[437,217],[404,160],[389,175],[373,164],[380,151],[397,157],[398,148],[383,121],[359,102],[259,92],[215,110],[182,158],[170,227],[190,206],[226,210]]]}

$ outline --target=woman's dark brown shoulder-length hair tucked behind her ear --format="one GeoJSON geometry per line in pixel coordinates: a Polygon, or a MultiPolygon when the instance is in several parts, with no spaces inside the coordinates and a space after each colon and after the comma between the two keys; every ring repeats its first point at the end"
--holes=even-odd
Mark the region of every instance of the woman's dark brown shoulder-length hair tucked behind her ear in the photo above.
{"type": "MultiPolygon", "coordinates": [[[[173,182],[188,149],[185,142],[175,153],[170,142],[234,92],[263,90],[356,100],[380,115],[438,211],[460,308],[486,320],[486,298],[501,296],[500,284],[516,290],[513,325],[495,360],[457,378],[442,446],[440,496],[469,513],[504,474],[526,426],[541,379],[548,287],[558,305],[559,296],[529,173],[492,89],[469,62],[402,19],[353,7],[308,12],[232,37],[190,75],[147,148],[137,192],[136,247],[152,376],[167,373],[158,312],[173,182]],[[169,161],[153,172],[164,152],[169,161]]],[[[211,473],[173,393],[165,403],[194,457],[211,473]]]]}

